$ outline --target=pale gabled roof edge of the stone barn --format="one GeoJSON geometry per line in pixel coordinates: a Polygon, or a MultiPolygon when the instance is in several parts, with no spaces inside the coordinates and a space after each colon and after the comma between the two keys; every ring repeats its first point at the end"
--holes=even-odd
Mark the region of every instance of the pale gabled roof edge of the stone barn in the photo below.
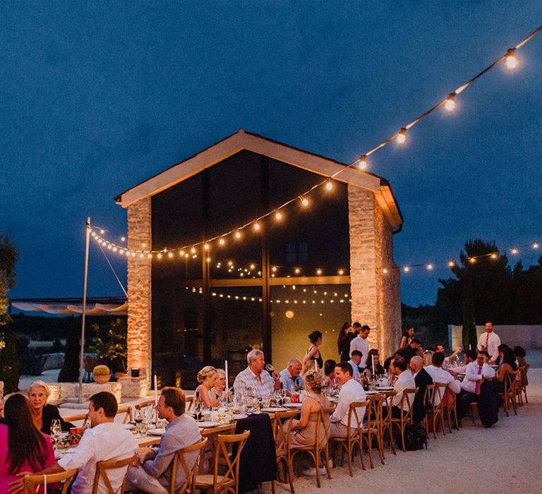
{"type": "MultiPolygon", "coordinates": [[[[212,167],[227,157],[235,155],[241,150],[248,150],[259,155],[277,159],[278,161],[312,171],[322,176],[332,176],[337,171],[348,166],[345,163],[335,161],[335,159],[315,155],[312,152],[278,143],[262,135],[243,131],[241,128],[238,132],[207,147],[207,149],[129,188],[115,198],[116,203],[122,207],[128,207],[132,203],[135,203],[135,201],[160,193],[174,186],[176,183],[198,174],[203,169],[212,167]]],[[[372,191],[392,228],[402,225],[403,218],[399,210],[399,205],[397,205],[390,183],[386,179],[371,174],[368,171],[361,171],[354,168],[345,169],[335,179],[372,191]]]]}

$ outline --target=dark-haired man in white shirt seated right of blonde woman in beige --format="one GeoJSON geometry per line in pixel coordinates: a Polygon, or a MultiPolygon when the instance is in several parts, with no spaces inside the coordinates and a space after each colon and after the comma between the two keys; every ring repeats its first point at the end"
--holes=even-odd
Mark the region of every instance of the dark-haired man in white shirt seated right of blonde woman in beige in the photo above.
{"type": "MultiPolygon", "coordinates": [[[[330,437],[346,438],[348,435],[348,414],[350,404],[354,402],[365,402],[366,394],[363,386],[352,379],[352,366],[348,362],[339,362],[335,366],[335,379],[341,385],[337,408],[330,417],[330,437]]],[[[358,418],[363,420],[365,407],[358,409],[358,418]]],[[[354,416],[353,416],[354,417],[354,416]]],[[[356,424],[351,424],[356,425],[356,424]]]]}

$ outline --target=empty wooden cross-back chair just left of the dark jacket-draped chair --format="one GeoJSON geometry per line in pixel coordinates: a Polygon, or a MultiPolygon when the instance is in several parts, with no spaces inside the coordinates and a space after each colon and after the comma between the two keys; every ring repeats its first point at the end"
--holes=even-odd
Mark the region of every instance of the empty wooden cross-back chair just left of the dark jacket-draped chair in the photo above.
{"type": "Polygon", "coordinates": [[[250,430],[245,430],[241,434],[219,434],[217,437],[217,446],[215,450],[215,466],[212,474],[196,474],[194,489],[211,490],[213,494],[222,492],[239,492],[239,460],[241,451],[245,446],[250,430]],[[238,443],[237,454],[231,458],[228,452],[228,445],[238,443]],[[218,474],[219,465],[226,467],[224,475],[218,474]]]}

